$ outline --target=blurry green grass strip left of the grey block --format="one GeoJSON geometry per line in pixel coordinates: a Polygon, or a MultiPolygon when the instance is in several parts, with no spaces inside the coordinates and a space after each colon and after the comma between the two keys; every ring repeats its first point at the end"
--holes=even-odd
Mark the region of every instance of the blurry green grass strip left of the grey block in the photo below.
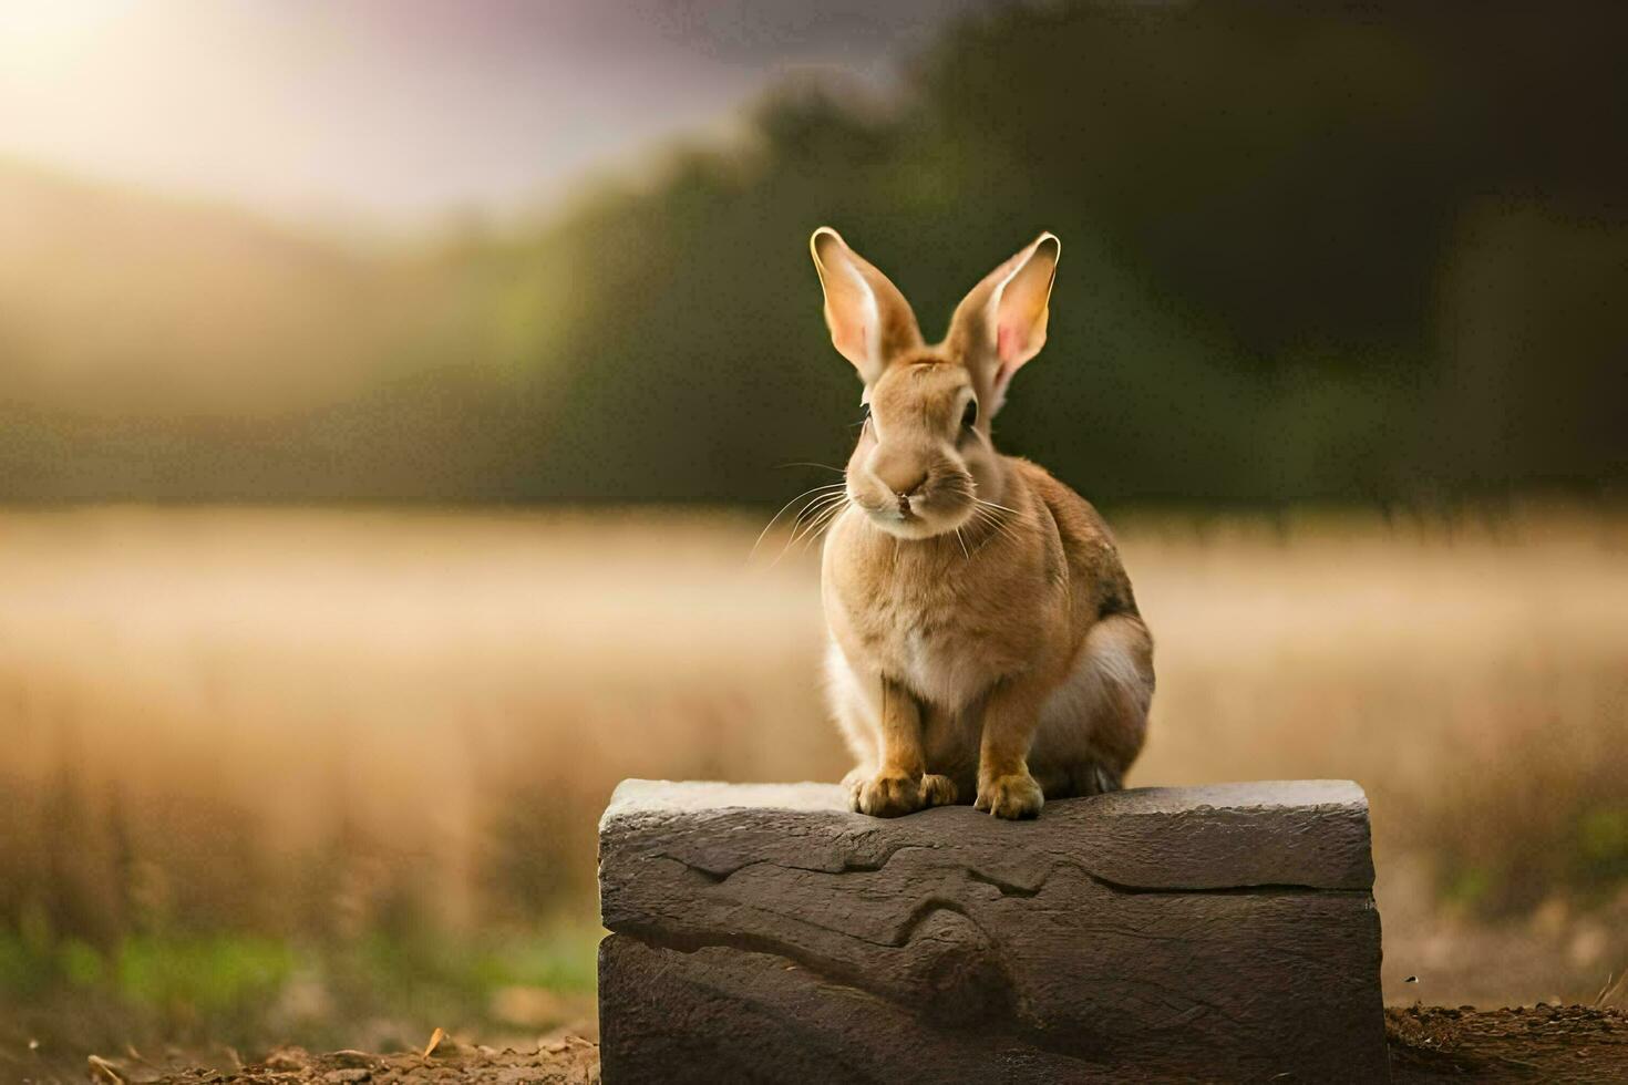
{"type": "Polygon", "coordinates": [[[555,924],[479,937],[374,930],[322,945],[164,932],[101,948],[0,927],[0,1013],[57,1051],[199,1041],[244,1051],[330,1048],[378,1036],[370,1030],[379,1022],[399,1025],[400,1041],[410,1043],[436,1025],[511,1025],[493,1018],[505,987],[554,992],[562,1015],[588,1012],[599,935],[597,927],[555,924]]]}

